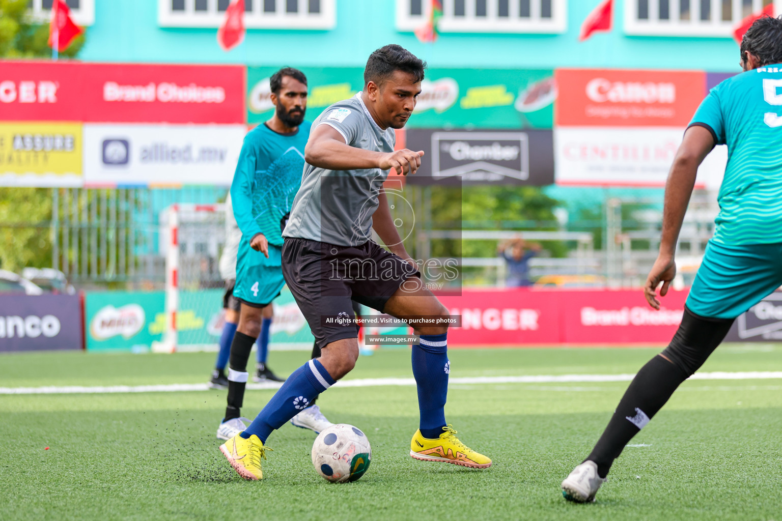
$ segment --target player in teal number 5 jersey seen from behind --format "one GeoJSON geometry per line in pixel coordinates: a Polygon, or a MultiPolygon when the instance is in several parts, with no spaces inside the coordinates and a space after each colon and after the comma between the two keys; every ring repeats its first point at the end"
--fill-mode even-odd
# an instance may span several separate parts
{"type": "Polygon", "coordinates": [[[712,89],[695,112],[665,185],[660,253],[647,278],[660,308],[698,166],[727,145],[716,232],[708,241],[679,330],[640,369],[591,454],[562,482],[571,501],[594,501],[622,449],[723,341],[737,316],[782,284],[782,20],[763,17],[741,41],[744,73],[712,89]]]}

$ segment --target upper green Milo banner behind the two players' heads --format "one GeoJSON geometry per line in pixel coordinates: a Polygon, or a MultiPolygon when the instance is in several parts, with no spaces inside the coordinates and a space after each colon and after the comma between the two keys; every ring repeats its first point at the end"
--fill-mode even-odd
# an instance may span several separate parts
{"type": "MultiPolygon", "coordinates": [[[[247,122],[274,112],[269,78],[277,67],[247,70],[247,122]]],[[[307,120],[364,88],[360,67],[302,67],[307,75],[307,120]]],[[[551,129],[557,88],[552,70],[430,69],[421,83],[408,128],[551,129]]]]}

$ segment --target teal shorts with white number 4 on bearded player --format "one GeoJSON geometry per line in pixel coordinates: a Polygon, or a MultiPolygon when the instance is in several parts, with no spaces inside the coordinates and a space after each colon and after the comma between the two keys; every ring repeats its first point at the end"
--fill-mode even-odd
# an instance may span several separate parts
{"type": "Polygon", "coordinates": [[[234,297],[253,307],[271,304],[285,286],[282,278],[282,248],[269,244],[269,258],[249,247],[249,241],[239,243],[236,255],[234,297]]]}

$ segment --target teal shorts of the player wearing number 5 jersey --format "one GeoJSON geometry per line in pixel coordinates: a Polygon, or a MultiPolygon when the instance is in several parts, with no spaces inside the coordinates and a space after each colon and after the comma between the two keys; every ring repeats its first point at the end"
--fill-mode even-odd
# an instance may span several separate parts
{"type": "Polygon", "coordinates": [[[782,243],[720,244],[708,241],[687,297],[700,316],[734,319],[782,285],[782,243]]]}

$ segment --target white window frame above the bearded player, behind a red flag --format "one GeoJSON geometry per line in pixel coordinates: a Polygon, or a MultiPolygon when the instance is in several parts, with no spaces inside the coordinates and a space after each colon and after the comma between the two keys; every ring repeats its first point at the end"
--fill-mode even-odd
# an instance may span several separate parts
{"type": "MultiPolygon", "coordinates": [[[[264,0],[253,0],[253,11],[245,12],[248,29],[333,29],[336,24],[337,0],[321,0],[321,12],[310,14],[308,0],[299,1],[299,12],[285,12],[285,0],[275,0],[274,12],[264,12],[264,0]],[[303,8],[303,9],[302,9],[303,8]]],[[[217,0],[207,0],[206,11],[195,11],[195,0],[185,0],[184,11],[171,9],[171,0],[157,0],[160,27],[220,27],[225,12],[217,10],[217,0]]]]}

